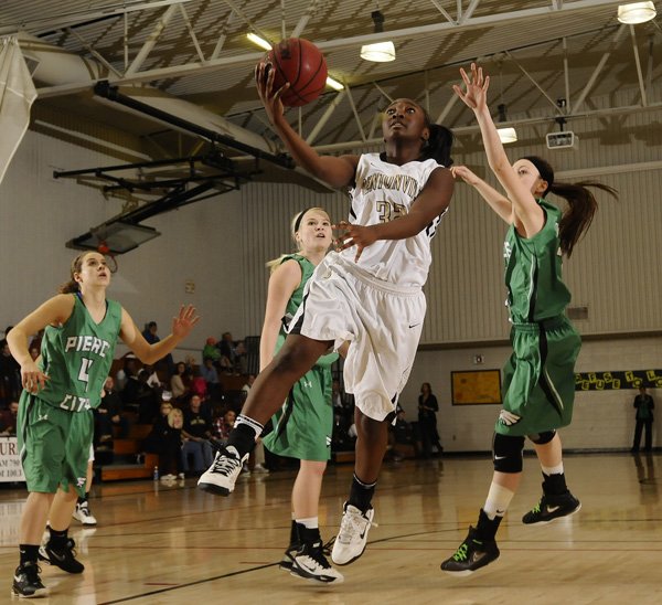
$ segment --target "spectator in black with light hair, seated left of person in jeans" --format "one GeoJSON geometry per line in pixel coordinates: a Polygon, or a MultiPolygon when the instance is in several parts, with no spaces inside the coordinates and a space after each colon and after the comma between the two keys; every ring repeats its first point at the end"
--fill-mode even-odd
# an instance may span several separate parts
{"type": "MultiPolygon", "coordinates": [[[[168,391],[164,396],[170,397],[168,391]]],[[[145,439],[145,450],[148,454],[158,454],[161,479],[169,480],[175,477],[184,478],[182,460],[182,427],[184,415],[181,410],[172,407],[170,401],[161,402],[159,417],[150,434],[145,439]]]]}

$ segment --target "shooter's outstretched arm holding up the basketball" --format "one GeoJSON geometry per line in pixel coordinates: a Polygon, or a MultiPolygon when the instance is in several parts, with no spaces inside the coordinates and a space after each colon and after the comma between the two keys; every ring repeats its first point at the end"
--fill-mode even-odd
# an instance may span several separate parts
{"type": "Polygon", "coordinates": [[[359,157],[320,156],[310,147],[285,119],[280,95],[287,91],[289,84],[274,91],[274,75],[275,71],[267,70],[266,63],[259,63],[255,67],[257,93],[265,106],[267,117],[295,161],[331,187],[341,188],[352,184],[359,157]]]}

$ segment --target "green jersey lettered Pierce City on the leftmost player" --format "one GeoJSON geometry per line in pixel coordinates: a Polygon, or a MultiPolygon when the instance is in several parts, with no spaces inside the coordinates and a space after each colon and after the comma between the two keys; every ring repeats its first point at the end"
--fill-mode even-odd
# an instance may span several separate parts
{"type": "Polygon", "coordinates": [[[98,407],[102,389],[115,355],[121,323],[121,305],[106,300],[106,315],[96,323],[81,297],[74,296],[71,317],[47,326],[41,348],[41,368],[49,375],[38,397],[50,405],[82,412],[98,407]]]}

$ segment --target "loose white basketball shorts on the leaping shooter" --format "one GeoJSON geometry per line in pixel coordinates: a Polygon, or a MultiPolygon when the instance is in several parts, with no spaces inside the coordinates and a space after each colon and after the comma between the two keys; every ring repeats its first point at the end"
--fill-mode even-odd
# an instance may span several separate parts
{"type": "Polygon", "coordinates": [[[383,421],[395,412],[407,383],[426,311],[419,287],[373,278],[331,253],[308,280],[290,326],[338,349],[350,341],[344,386],[366,416],[383,421]]]}

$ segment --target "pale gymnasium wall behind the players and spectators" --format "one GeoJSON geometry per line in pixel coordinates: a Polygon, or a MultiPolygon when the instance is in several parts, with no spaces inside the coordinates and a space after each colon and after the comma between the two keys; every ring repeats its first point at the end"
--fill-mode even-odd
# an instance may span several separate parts
{"type": "MultiPolygon", "coordinates": [[[[595,223],[565,263],[573,305],[586,306],[577,327],[587,336],[579,371],[660,368],[662,268],[660,225],[662,190],[660,144],[662,112],[600,118],[609,125],[595,136],[596,118],[569,125],[580,137],[576,150],[548,151],[540,124],[517,127],[516,158],[541,153],[558,178],[596,178],[620,191],[620,200],[600,195],[595,223]],[[601,340],[591,340],[600,337],[601,340]]],[[[553,129],[551,126],[549,129],[553,129]]],[[[456,162],[485,174],[476,137],[462,136],[456,162]]],[[[117,163],[117,157],[83,149],[30,130],[0,185],[0,331],[52,295],[67,274],[74,251],[64,243],[117,214],[121,205],[73,180],[53,180],[52,170],[117,163]]],[[[333,219],[346,215],[341,192],[313,193],[292,184],[249,184],[146,221],[162,235],[119,257],[110,295],[142,327],[156,320],[159,332],[180,302],[194,304],[202,321],[175,352],[199,352],[207,336],[232,330],[258,335],[268,275],[264,263],[292,250],[289,222],[310,205],[327,208],[333,219]],[[192,280],[194,294],[184,285],[192,280]]],[[[459,183],[451,210],[433,243],[434,265],[426,287],[428,316],[424,348],[417,357],[402,403],[416,417],[420,383],[433,383],[441,413],[439,426],[449,450],[487,450],[495,405],[450,405],[450,372],[472,370],[473,354],[483,368],[500,368],[508,355],[501,246],[505,225],[476,193],[459,183]]],[[[120,352],[121,349],[120,349],[120,352]]],[[[632,434],[632,391],[589,392],[577,397],[576,421],[564,431],[572,448],[627,447],[632,434]]],[[[661,406],[662,399],[653,391],[661,406]]]]}

